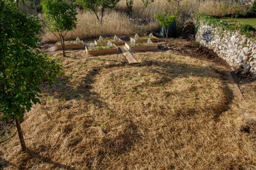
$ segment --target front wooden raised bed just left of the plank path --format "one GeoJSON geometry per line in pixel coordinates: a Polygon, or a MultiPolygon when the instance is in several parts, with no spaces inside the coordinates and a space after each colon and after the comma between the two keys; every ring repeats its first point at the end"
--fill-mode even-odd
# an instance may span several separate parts
{"type": "Polygon", "coordinates": [[[86,46],[86,53],[87,55],[104,55],[104,54],[110,54],[110,53],[117,53],[118,47],[113,44],[111,47],[108,45],[102,44],[102,45],[95,45],[95,49],[91,49],[90,45],[86,46]]]}

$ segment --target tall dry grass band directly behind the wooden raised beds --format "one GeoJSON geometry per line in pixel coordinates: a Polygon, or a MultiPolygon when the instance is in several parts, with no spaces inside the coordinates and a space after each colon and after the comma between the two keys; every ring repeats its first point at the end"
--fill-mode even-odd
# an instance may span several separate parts
{"type": "MultiPolygon", "coordinates": [[[[157,28],[156,22],[151,23],[151,29],[157,28]]],[[[77,27],[66,35],[66,39],[76,39],[76,37],[85,39],[103,36],[132,35],[135,33],[144,33],[145,28],[130,22],[130,18],[120,12],[109,10],[103,18],[103,33],[100,31],[100,24],[95,14],[79,11],[77,15],[77,27]]],[[[42,35],[43,41],[58,41],[51,32],[42,35]]]]}

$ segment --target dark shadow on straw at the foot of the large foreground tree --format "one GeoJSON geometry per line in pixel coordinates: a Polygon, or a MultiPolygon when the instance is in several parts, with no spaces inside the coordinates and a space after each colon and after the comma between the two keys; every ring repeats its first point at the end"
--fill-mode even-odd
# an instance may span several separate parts
{"type": "MultiPolygon", "coordinates": [[[[47,147],[46,146],[42,146],[41,148],[47,148],[47,147]]],[[[30,150],[30,149],[27,149],[25,154],[26,154],[26,156],[24,156],[23,159],[18,164],[18,169],[20,169],[20,170],[28,169],[29,167],[27,167],[27,163],[31,159],[37,159],[39,162],[44,162],[44,163],[52,164],[52,167],[51,167],[52,169],[53,168],[61,168],[61,169],[75,170],[75,168],[72,167],[72,166],[68,166],[68,165],[65,165],[65,164],[57,163],[57,162],[51,160],[48,157],[41,156],[40,152],[35,152],[35,151],[30,150]]],[[[33,166],[33,164],[30,164],[30,166],[33,166]]]]}

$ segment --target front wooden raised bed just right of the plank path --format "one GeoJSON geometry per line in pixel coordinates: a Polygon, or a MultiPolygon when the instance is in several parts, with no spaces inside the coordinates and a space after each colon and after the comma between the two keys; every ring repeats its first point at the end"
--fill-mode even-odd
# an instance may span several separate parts
{"type": "Polygon", "coordinates": [[[129,51],[154,51],[158,49],[158,45],[152,43],[147,45],[147,43],[136,43],[131,45],[131,43],[125,42],[125,46],[129,51]]]}

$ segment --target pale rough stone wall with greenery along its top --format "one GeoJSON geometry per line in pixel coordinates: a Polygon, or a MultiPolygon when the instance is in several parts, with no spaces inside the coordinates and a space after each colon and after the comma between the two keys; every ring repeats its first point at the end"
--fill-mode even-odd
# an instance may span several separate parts
{"type": "Polygon", "coordinates": [[[196,41],[214,50],[231,67],[241,70],[242,74],[256,76],[255,38],[248,38],[239,31],[200,24],[196,41]]]}

